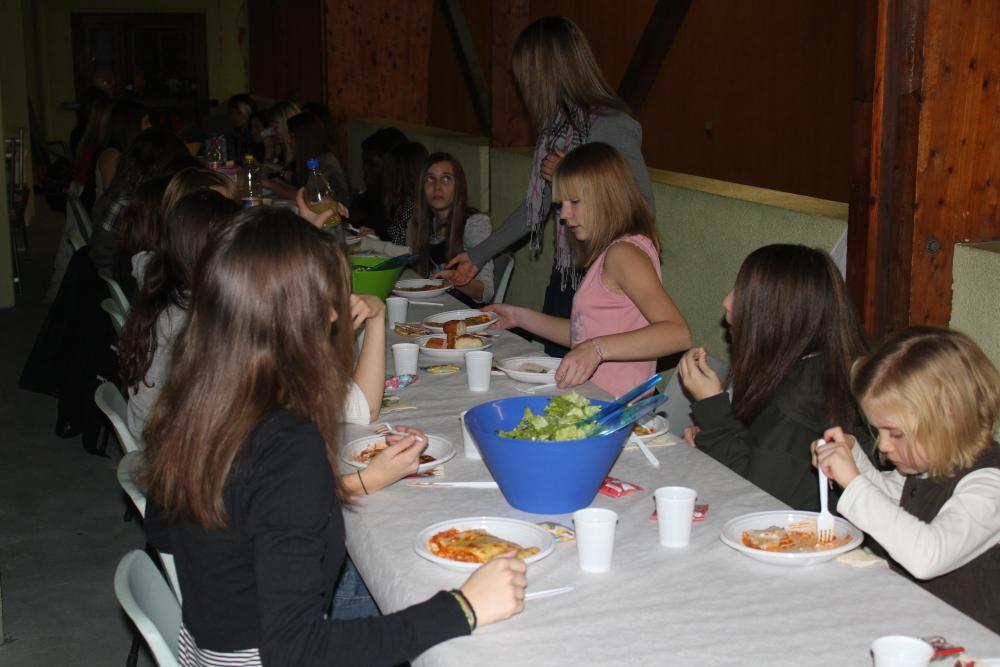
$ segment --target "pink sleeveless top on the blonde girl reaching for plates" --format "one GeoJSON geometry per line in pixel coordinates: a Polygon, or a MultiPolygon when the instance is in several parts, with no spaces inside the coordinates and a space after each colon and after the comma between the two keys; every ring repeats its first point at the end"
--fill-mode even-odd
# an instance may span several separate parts
{"type": "MultiPolygon", "coordinates": [[[[662,280],[660,257],[656,246],[646,236],[622,236],[612,242],[631,243],[639,247],[656,269],[656,275],[662,280]]],[[[608,246],[610,248],[611,246],[608,246]]],[[[647,320],[632,300],[623,293],[609,290],[601,279],[604,272],[604,258],[608,251],[602,252],[583,277],[583,282],[573,297],[573,315],[570,319],[570,344],[576,347],[584,341],[598,336],[625,333],[649,326],[647,320]]],[[[621,396],[656,372],[656,359],[648,361],[605,361],[597,367],[591,382],[613,396],[621,396]]]]}

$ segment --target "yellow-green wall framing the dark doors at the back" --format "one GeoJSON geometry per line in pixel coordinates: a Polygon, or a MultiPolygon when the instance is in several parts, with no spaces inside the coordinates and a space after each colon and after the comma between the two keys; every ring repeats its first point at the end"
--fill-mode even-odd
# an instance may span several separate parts
{"type": "Polygon", "coordinates": [[[225,100],[249,85],[246,45],[240,47],[240,27],[246,27],[241,0],[39,0],[36,5],[40,114],[50,138],[69,136],[72,111],[62,108],[75,99],[73,81],[74,12],[188,12],[205,14],[209,97],[225,100]]]}

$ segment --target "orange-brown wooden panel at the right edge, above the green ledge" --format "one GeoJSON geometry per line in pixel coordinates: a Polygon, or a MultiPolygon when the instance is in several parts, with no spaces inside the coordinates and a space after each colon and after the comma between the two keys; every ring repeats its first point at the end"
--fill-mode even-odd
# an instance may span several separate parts
{"type": "Polygon", "coordinates": [[[1000,238],[998,35],[997,0],[931,0],[916,156],[913,324],[947,324],[956,242],[1000,238]]]}

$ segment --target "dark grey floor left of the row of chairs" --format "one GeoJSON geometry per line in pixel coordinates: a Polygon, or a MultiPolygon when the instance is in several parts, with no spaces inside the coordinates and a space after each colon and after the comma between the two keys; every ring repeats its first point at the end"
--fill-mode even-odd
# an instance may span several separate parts
{"type": "MultiPolygon", "coordinates": [[[[118,608],[118,560],[143,544],[125,523],[110,458],[84,452],[79,437],[55,434],[56,401],[22,391],[21,368],[45,318],[41,303],[62,214],[40,203],[22,256],[24,294],[0,310],[0,665],[119,665],[132,639],[118,608]]],[[[140,655],[140,665],[153,664],[140,655]]]]}

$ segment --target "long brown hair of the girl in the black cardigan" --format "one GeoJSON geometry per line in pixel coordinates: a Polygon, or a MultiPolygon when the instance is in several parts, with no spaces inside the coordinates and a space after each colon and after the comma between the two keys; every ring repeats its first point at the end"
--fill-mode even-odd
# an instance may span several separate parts
{"type": "Polygon", "coordinates": [[[317,427],[336,471],[354,360],[349,286],[336,239],[289,211],[248,209],[206,250],[143,433],[149,490],[169,515],[224,526],[233,462],[276,410],[317,427]]]}

